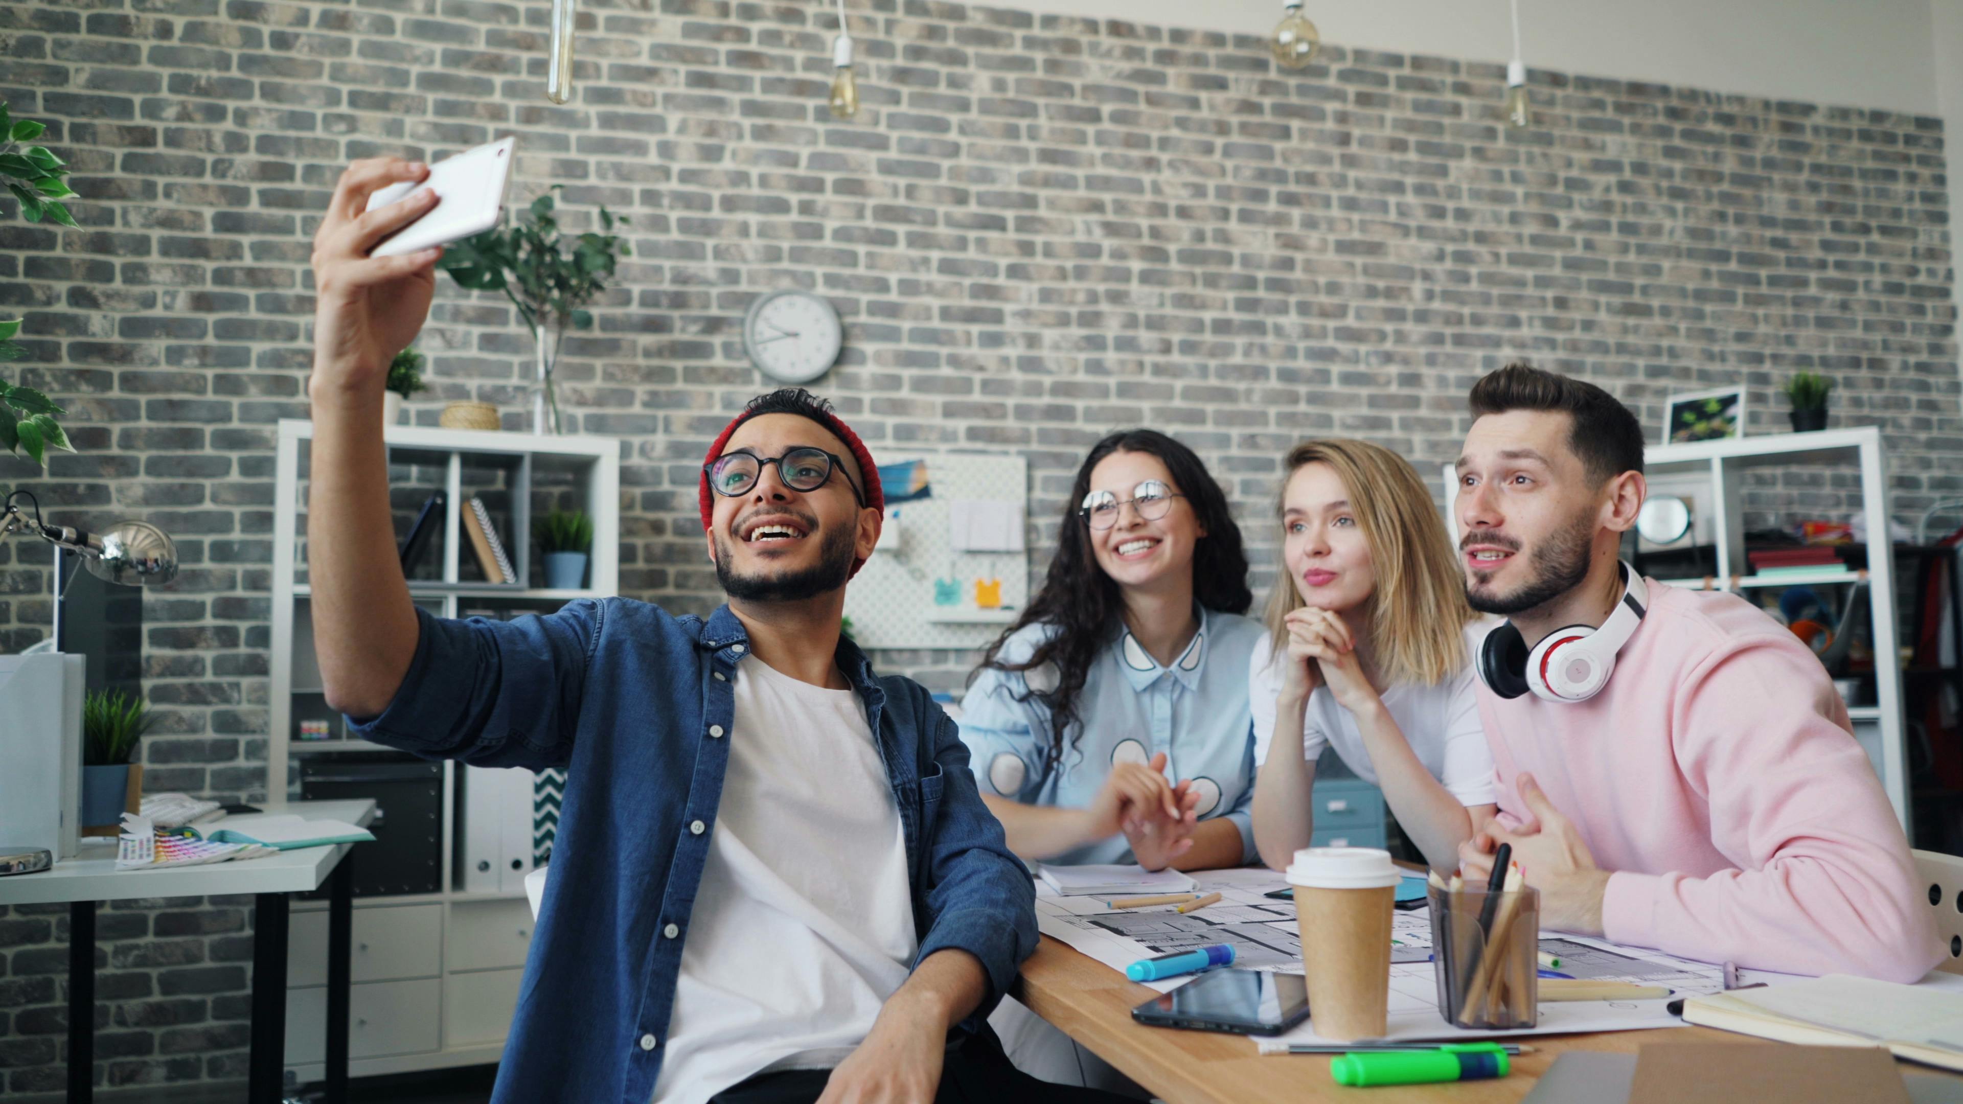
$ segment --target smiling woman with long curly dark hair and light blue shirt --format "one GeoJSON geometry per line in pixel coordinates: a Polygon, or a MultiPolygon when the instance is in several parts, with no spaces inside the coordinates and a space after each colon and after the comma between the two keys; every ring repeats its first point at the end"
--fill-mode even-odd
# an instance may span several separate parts
{"type": "Polygon", "coordinates": [[[982,798],[1029,860],[1241,866],[1262,629],[1227,495],[1184,444],[1084,458],[1040,593],[962,701],[982,798]]]}

